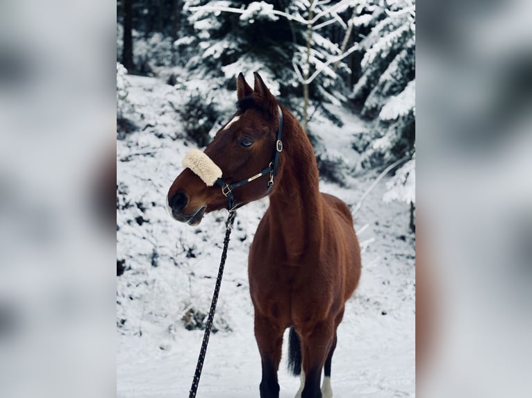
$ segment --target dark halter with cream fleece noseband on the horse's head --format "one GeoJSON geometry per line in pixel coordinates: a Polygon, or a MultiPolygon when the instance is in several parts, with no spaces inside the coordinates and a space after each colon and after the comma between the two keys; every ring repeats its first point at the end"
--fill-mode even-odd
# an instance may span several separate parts
{"type": "Polygon", "coordinates": [[[219,168],[215,162],[213,162],[208,155],[201,152],[200,150],[193,149],[185,155],[183,158],[183,167],[190,168],[196,175],[207,184],[208,187],[212,187],[215,183],[222,188],[222,193],[227,198],[228,201],[228,210],[233,211],[238,207],[235,197],[233,196],[233,190],[242,185],[247,184],[257,178],[267,175],[269,173],[268,180],[268,191],[270,193],[274,187],[274,178],[277,175],[277,170],[279,168],[279,157],[283,150],[283,141],[281,141],[281,135],[283,133],[283,111],[281,107],[277,105],[279,110],[279,128],[277,129],[277,139],[275,143],[275,150],[272,162],[269,162],[268,166],[259,171],[256,175],[252,175],[250,178],[245,180],[240,180],[238,182],[233,182],[228,184],[222,180],[222,169],[219,168]]]}

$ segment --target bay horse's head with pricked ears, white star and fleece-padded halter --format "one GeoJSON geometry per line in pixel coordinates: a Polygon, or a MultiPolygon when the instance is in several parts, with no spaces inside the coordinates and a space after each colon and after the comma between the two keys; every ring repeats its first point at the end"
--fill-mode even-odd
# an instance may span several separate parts
{"type": "Polygon", "coordinates": [[[198,225],[203,215],[234,209],[274,189],[282,150],[282,112],[258,73],[253,89],[240,73],[237,111],[201,152],[185,155],[185,170],[169,188],[167,207],[178,221],[198,225]]]}

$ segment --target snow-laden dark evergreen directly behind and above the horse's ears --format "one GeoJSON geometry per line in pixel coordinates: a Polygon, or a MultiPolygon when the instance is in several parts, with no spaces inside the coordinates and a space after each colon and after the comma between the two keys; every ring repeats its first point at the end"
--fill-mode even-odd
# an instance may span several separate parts
{"type": "MultiPolygon", "coordinates": [[[[224,87],[234,87],[240,71],[260,71],[301,119],[318,110],[340,123],[322,105],[346,99],[334,68],[342,51],[325,33],[331,24],[347,28],[340,13],[351,3],[187,0],[195,40],[189,34],[176,45],[184,51],[192,45],[187,67],[222,78],[224,87]]],[[[340,63],[340,71],[347,71],[345,64],[340,63]]]]}

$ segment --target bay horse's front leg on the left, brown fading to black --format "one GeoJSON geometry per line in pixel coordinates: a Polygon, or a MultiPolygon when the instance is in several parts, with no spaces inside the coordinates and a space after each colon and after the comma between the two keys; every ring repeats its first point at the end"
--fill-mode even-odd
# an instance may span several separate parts
{"type": "Polygon", "coordinates": [[[283,329],[255,310],[255,338],[263,365],[260,398],[279,398],[277,370],[281,362],[283,329]]]}

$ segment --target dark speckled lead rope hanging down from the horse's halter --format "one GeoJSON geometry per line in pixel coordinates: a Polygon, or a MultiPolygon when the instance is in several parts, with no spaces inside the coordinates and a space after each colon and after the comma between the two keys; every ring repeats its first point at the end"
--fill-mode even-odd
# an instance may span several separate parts
{"type": "Polygon", "coordinates": [[[201,349],[199,350],[198,363],[196,365],[196,372],[194,373],[194,380],[192,380],[192,386],[188,398],[195,398],[198,390],[199,378],[201,377],[201,369],[203,368],[203,361],[205,361],[205,355],[207,353],[207,345],[209,343],[210,329],[213,327],[213,318],[216,311],[216,302],[218,301],[218,293],[220,285],[222,285],[222,275],[224,275],[225,260],[227,257],[227,248],[229,245],[229,236],[231,236],[231,229],[233,227],[233,221],[235,220],[235,211],[229,211],[229,216],[226,221],[226,232],[224,239],[224,250],[222,251],[222,260],[218,270],[218,277],[216,279],[215,291],[213,293],[213,301],[210,303],[210,311],[207,318],[207,325],[205,333],[203,333],[203,341],[201,342],[201,349]]]}

